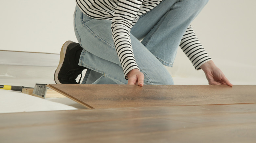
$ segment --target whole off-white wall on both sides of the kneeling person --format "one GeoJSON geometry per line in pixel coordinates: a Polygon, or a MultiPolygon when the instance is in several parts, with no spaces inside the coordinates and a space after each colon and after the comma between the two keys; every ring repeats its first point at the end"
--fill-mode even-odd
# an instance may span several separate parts
{"type": "MultiPolygon", "coordinates": [[[[210,0],[192,23],[208,54],[234,84],[256,85],[255,7],[255,0],[210,0]]],[[[0,50],[59,53],[66,40],[76,41],[74,8],[75,0],[0,1],[0,50]]],[[[174,77],[204,76],[181,50],[169,70],[174,77]]]]}

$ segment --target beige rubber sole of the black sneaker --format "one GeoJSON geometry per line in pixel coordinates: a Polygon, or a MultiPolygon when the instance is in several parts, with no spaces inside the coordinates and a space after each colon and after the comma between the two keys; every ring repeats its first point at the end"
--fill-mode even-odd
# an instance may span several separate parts
{"type": "Polygon", "coordinates": [[[59,56],[59,65],[54,73],[54,81],[56,84],[62,84],[62,83],[60,83],[60,81],[58,79],[58,75],[59,75],[60,68],[62,67],[62,64],[64,62],[64,58],[65,58],[65,54],[66,54],[68,45],[71,43],[73,43],[73,41],[66,41],[61,47],[60,56],[59,56]]]}

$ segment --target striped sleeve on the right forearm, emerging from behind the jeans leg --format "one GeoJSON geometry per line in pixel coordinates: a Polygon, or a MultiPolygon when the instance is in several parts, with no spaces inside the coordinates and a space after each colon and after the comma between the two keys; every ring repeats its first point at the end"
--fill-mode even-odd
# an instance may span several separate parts
{"type": "Polygon", "coordinates": [[[187,28],[185,34],[183,35],[180,47],[192,62],[196,70],[200,70],[200,66],[202,66],[205,62],[212,60],[204,50],[203,45],[198,40],[191,25],[187,28]]]}

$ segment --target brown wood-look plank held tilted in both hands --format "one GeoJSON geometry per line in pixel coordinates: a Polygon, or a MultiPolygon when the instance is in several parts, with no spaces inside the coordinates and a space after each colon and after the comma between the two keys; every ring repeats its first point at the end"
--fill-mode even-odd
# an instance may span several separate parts
{"type": "Polygon", "coordinates": [[[54,85],[48,87],[88,108],[256,103],[256,86],[54,85]]]}

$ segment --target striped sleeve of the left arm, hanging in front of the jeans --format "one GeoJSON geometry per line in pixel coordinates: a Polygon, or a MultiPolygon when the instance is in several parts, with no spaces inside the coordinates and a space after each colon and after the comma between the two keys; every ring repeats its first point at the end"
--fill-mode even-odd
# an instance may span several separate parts
{"type": "Polygon", "coordinates": [[[112,38],[125,77],[129,71],[139,69],[132,50],[130,31],[141,4],[142,0],[119,0],[112,19],[112,38]]]}

